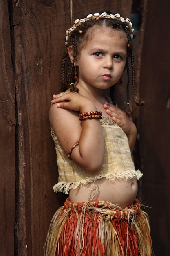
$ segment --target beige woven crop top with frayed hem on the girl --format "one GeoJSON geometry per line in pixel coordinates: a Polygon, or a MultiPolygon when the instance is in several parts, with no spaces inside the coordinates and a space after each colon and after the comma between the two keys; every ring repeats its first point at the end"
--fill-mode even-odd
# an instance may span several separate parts
{"type": "Polygon", "coordinates": [[[122,179],[126,177],[128,179],[136,177],[139,179],[142,177],[143,174],[139,170],[135,170],[128,138],[121,127],[109,117],[103,117],[100,122],[105,140],[105,154],[102,168],[97,173],[88,173],[69,160],[54,130],[51,128],[59,173],[58,183],[53,187],[55,192],[68,194],[72,188],[77,188],[82,184],[85,185],[103,177],[106,177],[108,182],[115,178],[122,179]]]}

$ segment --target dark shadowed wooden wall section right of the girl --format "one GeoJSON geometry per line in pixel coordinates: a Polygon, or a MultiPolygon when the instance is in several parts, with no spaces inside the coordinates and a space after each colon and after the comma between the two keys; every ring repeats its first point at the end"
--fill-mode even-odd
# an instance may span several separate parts
{"type": "Polygon", "coordinates": [[[170,2],[144,0],[138,132],[142,199],[150,215],[155,256],[170,255],[170,2]]]}

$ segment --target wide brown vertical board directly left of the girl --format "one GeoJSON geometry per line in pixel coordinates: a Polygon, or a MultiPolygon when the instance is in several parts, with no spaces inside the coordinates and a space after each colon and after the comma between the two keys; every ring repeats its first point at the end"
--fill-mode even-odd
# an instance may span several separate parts
{"type": "Polygon", "coordinates": [[[60,77],[65,8],[54,1],[18,1],[11,9],[18,111],[15,254],[43,255],[47,229],[57,209],[49,107],[51,90],[57,89],[60,77]]]}

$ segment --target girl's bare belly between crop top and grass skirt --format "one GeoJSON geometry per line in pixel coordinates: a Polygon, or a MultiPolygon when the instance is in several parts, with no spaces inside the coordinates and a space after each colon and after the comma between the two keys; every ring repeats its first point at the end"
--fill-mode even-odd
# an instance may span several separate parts
{"type": "Polygon", "coordinates": [[[137,195],[137,179],[114,179],[107,182],[106,178],[96,180],[87,185],[71,189],[71,202],[86,202],[87,200],[106,200],[122,208],[132,205],[137,195]]]}

